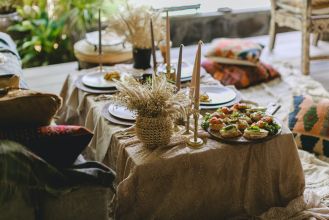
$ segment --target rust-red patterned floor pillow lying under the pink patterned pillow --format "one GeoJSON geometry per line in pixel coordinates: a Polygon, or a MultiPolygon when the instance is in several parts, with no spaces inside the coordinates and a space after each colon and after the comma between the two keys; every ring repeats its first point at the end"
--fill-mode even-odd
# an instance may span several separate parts
{"type": "Polygon", "coordinates": [[[280,74],[272,66],[261,62],[255,66],[244,66],[205,60],[202,62],[202,67],[223,85],[234,85],[237,89],[247,88],[280,77],[280,74]]]}

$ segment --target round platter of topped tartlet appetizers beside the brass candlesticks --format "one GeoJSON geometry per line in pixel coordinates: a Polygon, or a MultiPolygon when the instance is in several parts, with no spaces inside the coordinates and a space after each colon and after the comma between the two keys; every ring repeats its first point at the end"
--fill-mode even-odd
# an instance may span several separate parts
{"type": "Polygon", "coordinates": [[[281,133],[281,123],[265,107],[237,103],[203,117],[202,127],[216,140],[229,144],[264,142],[281,133]]]}

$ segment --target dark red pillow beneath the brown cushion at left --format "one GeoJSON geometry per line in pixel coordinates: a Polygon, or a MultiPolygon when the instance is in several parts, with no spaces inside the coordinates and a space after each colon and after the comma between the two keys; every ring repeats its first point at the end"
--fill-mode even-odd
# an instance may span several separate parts
{"type": "Polygon", "coordinates": [[[13,140],[56,167],[69,167],[87,147],[93,134],[81,126],[0,129],[0,140],[13,140]]]}

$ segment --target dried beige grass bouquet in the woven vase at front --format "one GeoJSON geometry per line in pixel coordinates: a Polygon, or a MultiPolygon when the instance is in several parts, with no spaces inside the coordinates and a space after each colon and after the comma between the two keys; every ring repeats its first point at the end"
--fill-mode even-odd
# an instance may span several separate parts
{"type": "Polygon", "coordinates": [[[112,100],[137,111],[141,117],[177,118],[185,114],[185,106],[189,103],[187,95],[183,91],[175,93],[175,86],[167,82],[165,76],[156,76],[152,81],[141,84],[133,77],[117,81],[119,93],[112,100]]]}

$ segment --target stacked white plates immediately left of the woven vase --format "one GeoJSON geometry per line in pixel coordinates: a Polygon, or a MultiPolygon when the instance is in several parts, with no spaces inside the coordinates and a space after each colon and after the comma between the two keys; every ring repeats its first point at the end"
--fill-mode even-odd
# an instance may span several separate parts
{"type": "Polygon", "coordinates": [[[135,124],[136,113],[128,110],[124,106],[106,104],[102,110],[102,115],[112,123],[131,126],[135,124]]]}

